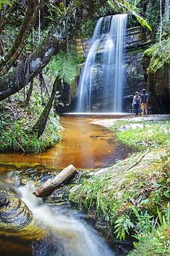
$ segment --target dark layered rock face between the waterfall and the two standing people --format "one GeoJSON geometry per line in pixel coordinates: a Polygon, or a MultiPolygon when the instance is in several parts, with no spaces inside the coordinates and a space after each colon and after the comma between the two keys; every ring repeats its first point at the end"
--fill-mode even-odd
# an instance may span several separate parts
{"type": "Polygon", "coordinates": [[[125,85],[124,85],[124,109],[131,111],[131,102],[136,91],[141,93],[147,88],[142,69],[142,55],[149,44],[149,37],[141,27],[127,30],[127,42],[125,53],[125,85]]]}

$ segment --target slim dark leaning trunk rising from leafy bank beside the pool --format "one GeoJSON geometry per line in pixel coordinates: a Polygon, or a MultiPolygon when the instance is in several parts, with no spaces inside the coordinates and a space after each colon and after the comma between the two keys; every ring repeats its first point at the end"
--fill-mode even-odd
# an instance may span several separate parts
{"type": "Polygon", "coordinates": [[[47,118],[50,114],[50,110],[52,108],[52,102],[54,100],[54,96],[56,94],[57,89],[59,88],[61,83],[61,80],[59,80],[58,77],[56,77],[56,80],[54,81],[53,84],[53,89],[52,89],[52,93],[50,96],[50,100],[47,102],[46,107],[43,109],[43,112],[41,113],[41,116],[39,117],[39,120],[37,120],[36,124],[34,125],[32,131],[35,133],[38,133],[38,137],[41,136],[41,134],[43,134],[43,131],[45,129],[45,125],[47,123],[47,118]]]}

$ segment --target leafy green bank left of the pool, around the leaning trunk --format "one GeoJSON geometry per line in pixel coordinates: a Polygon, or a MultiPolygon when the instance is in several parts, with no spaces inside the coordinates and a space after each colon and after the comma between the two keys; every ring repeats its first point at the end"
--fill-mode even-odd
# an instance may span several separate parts
{"type": "MultiPolygon", "coordinates": [[[[43,135],[38,138],[32,133],[32,127],[43,111],[41,89],[34,81],[33,91],[28,109],[25,109],[25,91],[20,91],[0,104],[0,152],[43,152],[61,140],[59,131],[62,127],[59,116],[54,116],[51,110],[43,135]]],[[[26,88],[27,89],[27,88],[26,88]]],[[[50,86],[49,86],[50,89],[50,86]]],[[[48,100],[43,96],[44,102],[48,100]]]]}

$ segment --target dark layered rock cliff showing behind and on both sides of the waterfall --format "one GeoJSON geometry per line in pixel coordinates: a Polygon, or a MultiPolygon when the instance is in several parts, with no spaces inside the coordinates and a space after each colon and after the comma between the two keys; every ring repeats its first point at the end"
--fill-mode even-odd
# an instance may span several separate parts
{"type": "MultiPolygon", "coordinates": [[[[147,89],[147,82],[142,69],[142,55],[145,49],[149,46],[149,36],[141,27],[127,29],[126,38],[126,53],[125,53],[125,82],[123,91],[123,111],[131,111],[131,102],[134,93],[138,91],[141,93],[143,88],[147,89]]],[[[83,48],[87,47],[87,42],[84,42],[83,48]]],[[[96,88],[103,88],[103,78],[100,72],[100,64],[96,68],[96,88]]],[[[71,104],[63,111],[75,111],[76,89],[78,84],[74,82],[71,86],[71,104]]],[[[101,99],[102,101],[102,99],[101,99]]],[[[150,104],[150,102],[149,102],[150,104]]],[[[97,111],[97,106],[96,111],[97,111]]],[[[98,106],[100,107],[100,106],[98,106]]],[[[151,109],[151,106],[149,106],[151,109]]]]}

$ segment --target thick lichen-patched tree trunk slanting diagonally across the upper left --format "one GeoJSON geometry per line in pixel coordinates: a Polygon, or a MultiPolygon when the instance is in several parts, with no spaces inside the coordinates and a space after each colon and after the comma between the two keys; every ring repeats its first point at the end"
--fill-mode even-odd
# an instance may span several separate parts
{"type": "MultiPolygon", "coordinates": [[[[71,39],[81,26],[85,24],[85,21],[94,15],[98,8],[106,2],[107,0],[77,1],[76,10],[70,8],[71,25],[67,31],[69,38],[71,39]]],[[[0,77],[0,101],[23,89],[50,62],[51,57],[59,53],[66,44],[66,33],[59,33],[59,28],[54,25],[47,37],[40,42],[33,53],[26,60],[22,60],[19,63],[17,72],[11,70],[6,75],[0,77]]]]}

